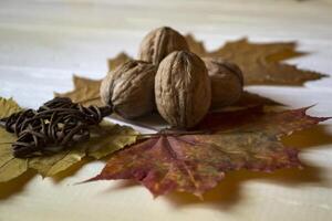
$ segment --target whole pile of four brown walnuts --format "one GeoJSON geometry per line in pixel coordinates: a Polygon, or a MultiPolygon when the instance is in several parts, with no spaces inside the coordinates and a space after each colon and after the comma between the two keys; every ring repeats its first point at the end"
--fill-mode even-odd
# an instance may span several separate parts
{"type": "Polygon", "coordinates": [[[228,106],[242,93],[240,69],[221,59],[200,59],[186,39],[164,27],[142,41],[138,60],[108,73],[101,86],[104,104],[124,118],[135,118],[157,108],[176,128],[198,124],[210,107],[228,106]]]}

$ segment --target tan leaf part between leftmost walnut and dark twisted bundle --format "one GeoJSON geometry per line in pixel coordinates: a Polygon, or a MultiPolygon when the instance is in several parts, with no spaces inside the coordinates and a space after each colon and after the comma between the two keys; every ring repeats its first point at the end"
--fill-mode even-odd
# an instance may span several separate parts
{"type": "Polygon", "coordinates": [[[66,93],[54,93],[59,97],[70,97],[73,102],[84,106],[102,106],[100,86],[102,81],[84,78],[73,75],[74,90],[66,93]]]}

